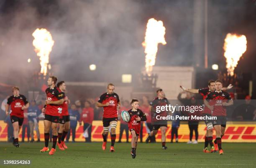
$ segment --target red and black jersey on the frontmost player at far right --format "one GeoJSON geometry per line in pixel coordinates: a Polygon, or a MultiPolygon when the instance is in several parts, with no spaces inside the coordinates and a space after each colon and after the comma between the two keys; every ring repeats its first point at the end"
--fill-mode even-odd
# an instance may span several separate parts
{"type": "Polygon", "coordinates": [[[218,92],[210,92],[205,98],[209,104],[213,107],[212,116],[226,116],[227,110],[226,107],[222,105],[223,102],[228,102],[231,100],[228,92],[220,91],[218,92]]]}

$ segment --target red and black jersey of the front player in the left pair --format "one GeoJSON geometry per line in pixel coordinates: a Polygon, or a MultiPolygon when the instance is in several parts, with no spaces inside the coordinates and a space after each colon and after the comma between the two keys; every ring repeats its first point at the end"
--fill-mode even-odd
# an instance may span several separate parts
{"type": "MultiPolygon", "coordinates": [[[[49,100],[49,101],[58,101],[58,100],[64,98],[63,92],[61,92],[61,90],[56,86],[52,89],[50,87],[48,87],[45,90],[45,93],[47,96],[47,100],[49,100]]],[[[60,116],[61,111],[62,111],[62,109],[59,104],[47,104],[45,114],[53,115],[53,116],[60,116]]]]}

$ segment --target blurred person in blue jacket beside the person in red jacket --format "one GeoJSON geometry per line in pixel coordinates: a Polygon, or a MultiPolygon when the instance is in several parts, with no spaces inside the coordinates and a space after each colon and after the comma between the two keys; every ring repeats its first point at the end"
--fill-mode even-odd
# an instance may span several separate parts
{"type": "Polygon", "coordinates": [[[72,142],[75,142],[77,121],[80,120],[80,114],[75,104],[72,104],[71,109],[69,109],[69,118],[70,118],[70,130],[67,133],[67,138],[66,138],[67,143],[69,142],[70,131],[72,131],[72,142]]]}

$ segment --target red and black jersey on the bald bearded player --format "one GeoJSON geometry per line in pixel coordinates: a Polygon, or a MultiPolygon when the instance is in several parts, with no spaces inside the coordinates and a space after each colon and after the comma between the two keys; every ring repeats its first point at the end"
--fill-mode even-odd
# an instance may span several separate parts
{"type": "Polygon", "coordinates": [[[100,96],[100,99],[98,100],[98,102],[102,104],[109,103],[108,107],[103,107],[104,118],[118,117],[117,104],[118,102],[120,102],[118,94],[104,93],[100,96]]]}

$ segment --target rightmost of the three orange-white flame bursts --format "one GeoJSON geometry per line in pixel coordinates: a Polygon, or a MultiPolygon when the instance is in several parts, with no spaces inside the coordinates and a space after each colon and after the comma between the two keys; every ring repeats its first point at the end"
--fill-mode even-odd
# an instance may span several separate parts
{"type": "Polygon", "coordinates": [[[223,49],[226,58],[226,68],[228,75],[233,76],[235,67],[238,64],[240,57],[246,51],[246,36],[228,33],[225,38],[223,49]]]}

